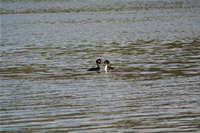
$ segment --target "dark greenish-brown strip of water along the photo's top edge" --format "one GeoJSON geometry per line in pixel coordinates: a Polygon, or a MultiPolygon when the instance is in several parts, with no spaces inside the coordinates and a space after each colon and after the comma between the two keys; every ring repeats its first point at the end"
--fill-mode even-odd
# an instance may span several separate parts
{"type": "Polygon", "coordinates": [[[199,1],[2,1],[1,14],[137,11],[199,8],[199,1]],[[50,4],[54,3],[54,4],[50,4]],[[16,6],[17,10],[13,8],[16,6]],[[27,5],[27,6],[23,6],[27,5]],[[69,6],[70,5],[70,6],[69,6]]]}

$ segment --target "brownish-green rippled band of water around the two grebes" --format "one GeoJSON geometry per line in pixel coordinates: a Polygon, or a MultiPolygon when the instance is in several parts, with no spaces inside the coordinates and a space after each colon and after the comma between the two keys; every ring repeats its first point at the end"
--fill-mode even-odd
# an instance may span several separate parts
{"type": "MultiPolygon", "coordinates": [[[[156,43],[130,43],[119,44],[112,42],[111,44],[104,44],[102,46],[81,46],[81,48],[66,49],[61,47],[45,48],[46,50],[57,51],[53,56],[46,52],[45,49],[32,49],[26,48],[25,53],[21,51],[18,53],[15,49],[10,50],[7,54],[14,54],[21,56],[17,64],[13,66],[2,66],[1,74],[4,76],[36,76],[36,77],[49,77],[49,78],[85,78],[92,73],[87,73],[86,70],[89,67],[95,66],[95,62],[88,60],[87,52],[91,55],[100,55],[100,53],[113,54],[113,59],[110,63],[112,66],[116,66],[113,71],[118,73],[123,79],[159,79],[164,77],[179,77],[179,76],[198,76],[200,74],[199,62],[199,42],[194,43],[168,43],[159,45],[156,43]],[[44,63],[38,62],[34,64],[27,64],[26,58],[29,51],[36,50],[35,54],[38,56],[41,54],[45,59],[44,63]],[[72,54],[68,65],[52,64],[51,62],[59,62],[65,60],[65,55],[72,54]],[[74,53],[80,56],[75,57],[74,53]],[[25,55],[25,57],[24,57],[25,55]],[[132,55],[132,56],[130,56],[132,55]],[[46,56],[46,57],[45,57],[46,56]],[[58,61],[55,61],[58,60],[58,61]],[[76,60],[77,63],[72,63],[76,60]],[[21,62],[21,64],[19,63],[21,62]],[[79,63],[81,62],[81,63],[79,63]],[[24,64],[24,65],[23,65],[24,64]],[[91,65],[89,65],[91,64],[91,65]]],[[[10,56],[9,55],[9,56],[10,56]]],[[[100,56],[99,56],[100,57],[100,56]]],[[[6,59],[7,57],[3,57],[6,59]]],[[[104,57],[109,58],[107,56],[104,57]]],[[[30,57],[32,60],[32,57],[30,57]]],[[[34,60],[33,60],[34,61],[34,60]]],[[[13,62],[14,63],[14,62],[13,62]]],[[[101,65],[101,72],[104,73],[104,65],[101,65]]],[[[119,77],[117,77],[119,78],[119,77]]]]}

